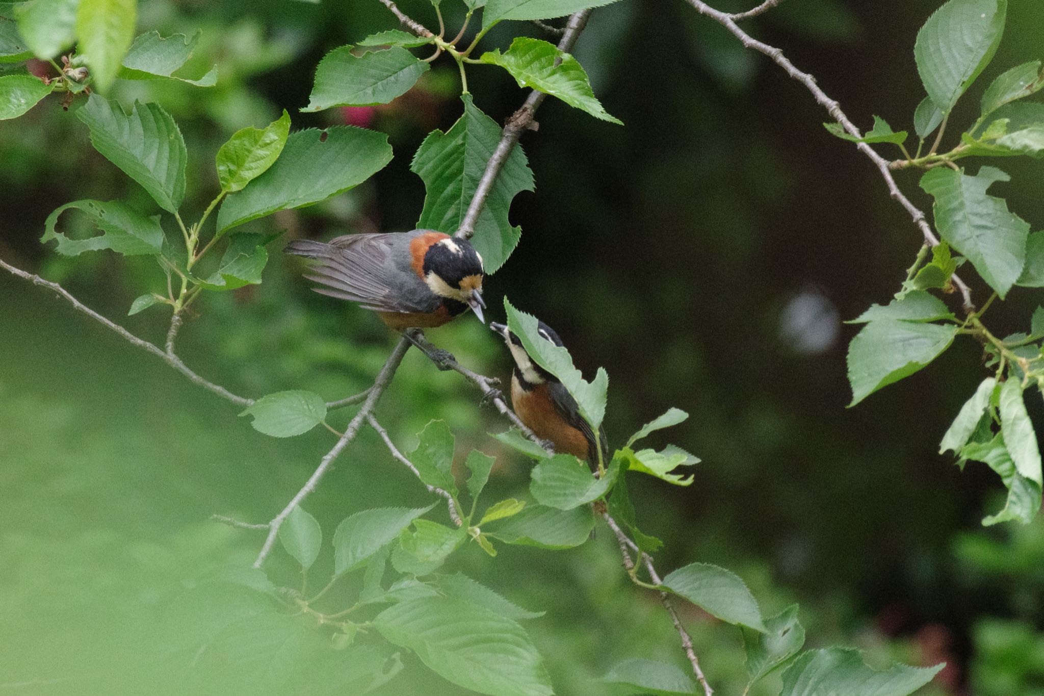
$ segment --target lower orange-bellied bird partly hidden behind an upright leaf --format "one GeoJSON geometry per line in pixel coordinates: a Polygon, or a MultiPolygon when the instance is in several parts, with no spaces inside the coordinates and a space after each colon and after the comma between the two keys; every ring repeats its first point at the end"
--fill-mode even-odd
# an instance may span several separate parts
{"type": "MultiPolygon", "coordinates": [[[[512,405],[515,412],[538,437],[550,440],[555,452],[564,452],[591,464],[601,458],[609,463],[609,443],[606,431],[598,429],[597,447],[594,431],[580,415],[579,406],[566,387],[549,371],[538,365],[522,347],[519,337],[507,327],[495,321],[490,329],[499,334],[515,359],[512,373],[512,405]]],[[[538,332],[545,340],[562,346],[562,339],[549,326],[540,321],[538,332]]]]}

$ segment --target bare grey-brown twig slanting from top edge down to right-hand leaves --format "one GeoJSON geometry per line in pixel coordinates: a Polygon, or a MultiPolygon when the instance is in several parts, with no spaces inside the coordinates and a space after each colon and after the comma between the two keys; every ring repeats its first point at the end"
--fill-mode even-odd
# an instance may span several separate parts
{"type": "MultiPolygon", "coordinates": [[[[801,70],[798,70],[798,68],[796,68],[794,65],[790,63],[790,61],[788,61],[785,55],[783,55],[783,51],[774,46],[769,46],[768,44],[764,44],[758,41],[757,39],[751,37],[751,34],[743,31],[736,24],[735,19],[732,15],[714,9],[713,7],[709,6],[706,2],[703,2],[703,0],[685,0],[685,1],[688,2],[690,5],[692,5],[696,9],[696,11],[698,11],[701,15],[713,19],[715,22],[727,28],[730,32],[732,32],[733,35],[739,39],[739,42],[743,44],[745,48],[758,51],[759,53],[763,53],[767,55],[769,58],[772,58],[776,63],[776,65],[783,68],[783,70],[786,71],[786,73],[790,77],[804,85],[805,88],[812,93],[812,96],[815,97],[815,101],[820,105],[825,107],[827,112],[830,114],[830,116],[841,124],[845,130],[855,136],[856,138],[862,137],[862,134],[860,134],[859,131],[859,128],[857,128],[855,124],[852,123],[851,120],[849,120],[849,117],[845,115],[845,112],[841,111],[840,104],[837,103],[837,101],[835,101],[834,99],[828,97],[827,94],[822,89],[820,89],[820,86],[816,85],[815,78],[812,77],[812,75],[806,72],[802,72],[801,70]]],[[[870,158],[870,160],[880,170],[881,176],[884,177],[884,183],[888,187],[888,194],[892,196],[893,199],[899,201],[899,203],[904,209],[906,209],[906,212],[909,213],[909,216],[912,218],[914,223],[917,224],[918,227],[920,227],[921,234],[924,235],[925,240],[927,240],[927,242],[932,246],[936,246],[939,244],[939,237],[936,237],[935,233],[932,232],[931,225],[928,224],[927,219],[925,218],[925,215],[921,211],[921,209],[919,209],[917,206],[910,202],[910,199],[907,198],[905,195],[903,195],[903,192],[899,190],[899,186],[896,184],[896,179],[892,176],[892,170],[888,167],[889,164],[888,161],[882,158],[880,154],[878,154],[874,150],[874,148],[872,148],[867,143],[857,143],[856,147],[858,147],[863,154],[870,158]]],[[[975,311],[975,305],[972,304],[971,291],[968,289],[968,286],[965,284],[965,282],[962,281],[956,275],[953,275],[953,284],[957,286],[957,288],[960,290],[962,296],[964,297],[965,311],[969,313],[975,311]]]]}

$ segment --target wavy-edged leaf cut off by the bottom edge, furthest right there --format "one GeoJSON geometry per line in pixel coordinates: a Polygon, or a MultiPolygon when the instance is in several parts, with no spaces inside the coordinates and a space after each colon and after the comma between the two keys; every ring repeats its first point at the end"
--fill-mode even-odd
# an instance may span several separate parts
{"type": "Polygon", "coordinates": [[[862,653],[851,648],[808,650],[783,672],[781,696],[907,696],[931,681],[945,665],[908,667],[898,663],[886,670],[871,669],[862,653]]]}

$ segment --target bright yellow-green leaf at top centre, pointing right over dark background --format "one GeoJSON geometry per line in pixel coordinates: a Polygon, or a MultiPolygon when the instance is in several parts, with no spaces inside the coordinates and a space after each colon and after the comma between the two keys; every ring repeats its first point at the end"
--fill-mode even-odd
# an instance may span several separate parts
{"type": "MultiPolygon", "coordinates": [[[[489,9],[487,9],[489,11],[489,9]]],[[[482,63],[500,66],[512,74],[519,87],[529,87],[562,99],[570,106],[586,111],[603,121],[623,124],[610,116],[591,90],[587,73],[579,63],[553,44],[540,39],[518,37],[506,53],[500,49],[483,53],[482,63]]]]}

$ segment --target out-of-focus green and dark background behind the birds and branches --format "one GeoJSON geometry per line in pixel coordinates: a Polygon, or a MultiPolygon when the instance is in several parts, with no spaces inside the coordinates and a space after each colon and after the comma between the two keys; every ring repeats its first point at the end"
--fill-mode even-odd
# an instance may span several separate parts
{"type": "MultiPolygon", "coordinates": [[[[444,4],[459,26],[462,4],[444,4]]],[[[923,97],[912,45],[938,4],[786,0],[750,26],[812,72],[857,124],[877,114],[912,129],[923,97]]],[[[428,3],[400,5],[434,24],[428,3]]],[[[217,147],[281,109],[296,128],[348,120],[386,131],[396,159],[371,182],[253,225],[285,229],[284,240],[408,230],[424,196],[409,162],[429,130],[459,114],[455,66],[436,62],[386,106],[296,112],[326,51],[395,26],[372,0],[143,0],[140,30],[203,29],[193,61],[200,73],[216,63],[218,85],[118,82],[114,96],[158,100],[175,117],[189,147],[186,210],[196,214],[216,191],[217,147]]],[[[541,35],[505,23],[488,45],[517,33],[541,35]]],[[[1041,37],[1044,8],[1012,0],[1000,51],[954,121],[973,120],[996,74],[1044,57],[1041,37]]],[[[513,206],[523,238],[487,283],[489,314],[500,318],[506,293],[562,334],[586,374],[608,369],[614,446],[668,406],[691,414],[669,437],[703,458],[694,485],[631,482],[639,521],[666,542],[658,566],[730,568],[766,614],[799,601],[810,647],[856,645],[878,666],[946,661],[927,694],[1044,694],[1044,524],[981,528],[983,512],[1002,504],[995,475],[978,464],[962,473],[936,454],[982,377],[978,346],[958,342],[929,369],[845,408],[854,331],[840,321],[886,302],[920,246],[879,173],[823,129],[827,116],[804,88],[682,2],[595,10],[575,54],[626,125],[554,99],[541,109],[539,133],[523,139],[537,191],[513,206]]],[[[472,67],[469,83],[498,121],[523,98],[495,68],[472,67]]],[[[161,290],[155,262],[61,259],[38,241],[47,215],[71,200],[150,205],[90,147],[72,112],[55,97],[0,123],[0,257],[160,341],[162,309],[124,316],[134,297],[161,290]]],[[[1005,169],[1013,182],[999,188],[1039,229],[1044,170],[1034,162],[1005,169]]],[[[899,182],[930,208],[915,174],[899,182]]],[[[366,312],[310,292],[300,264],[277,253],[282,243],[270,247],[263,285],[208,293],[194,307],[183,357],[252,397],[354,393],[394,337],[366,312]]],[[[973,286],[984,299],[986,286],[973,286]]],[[[53,293],[2,274],[0,297],[0,693],[264,693],[217,682],[186,691],[161,679],[182,649],[171,637],[191,630],[167,622],[183,616],[181,593],[215,568],[248,566],[261,543],[259,532],[208,518],[269,519],[329,449],[329,433],[267,438],[53,293]]],[[[1041,302],[1019,290],[991,310],[991,327],[1025,330],[1041,302]]],[[[471,318],[430,337],[479,371],[508,371],[502,344],[471,318]]],[[[528,464],[487,436],[504,424],[476,395],[412,352],[378,414],[404,451],[429,419],[446,419],[458,456],[471,447],[498,455],[493,485],[523,496],[528,464]]],[[[1041,403],[1029,402],[1041,415],[1041,403]]],[[[335,426],[350,414],[334,415],[335,426]]],[[[329,537],[351,512],[428,499],[366,431],[307,507],[329,537]]],[[[490,559],[471,545],[458,556],[455,567],[547,611],[527,628],[557,693],[618,693],[591,679],[630,656],[685,665],[655,596],[626,581],[608,530],[568,552],[501,547],[490,559]]],[[[293,580],[281,550],[271,572],[293,580]]],[[[713,686],[738,693],[738,632],[695,610],[685,618],[713,686]]],[[[464,693],[405,662],[377,693],[464,693]]]]}

